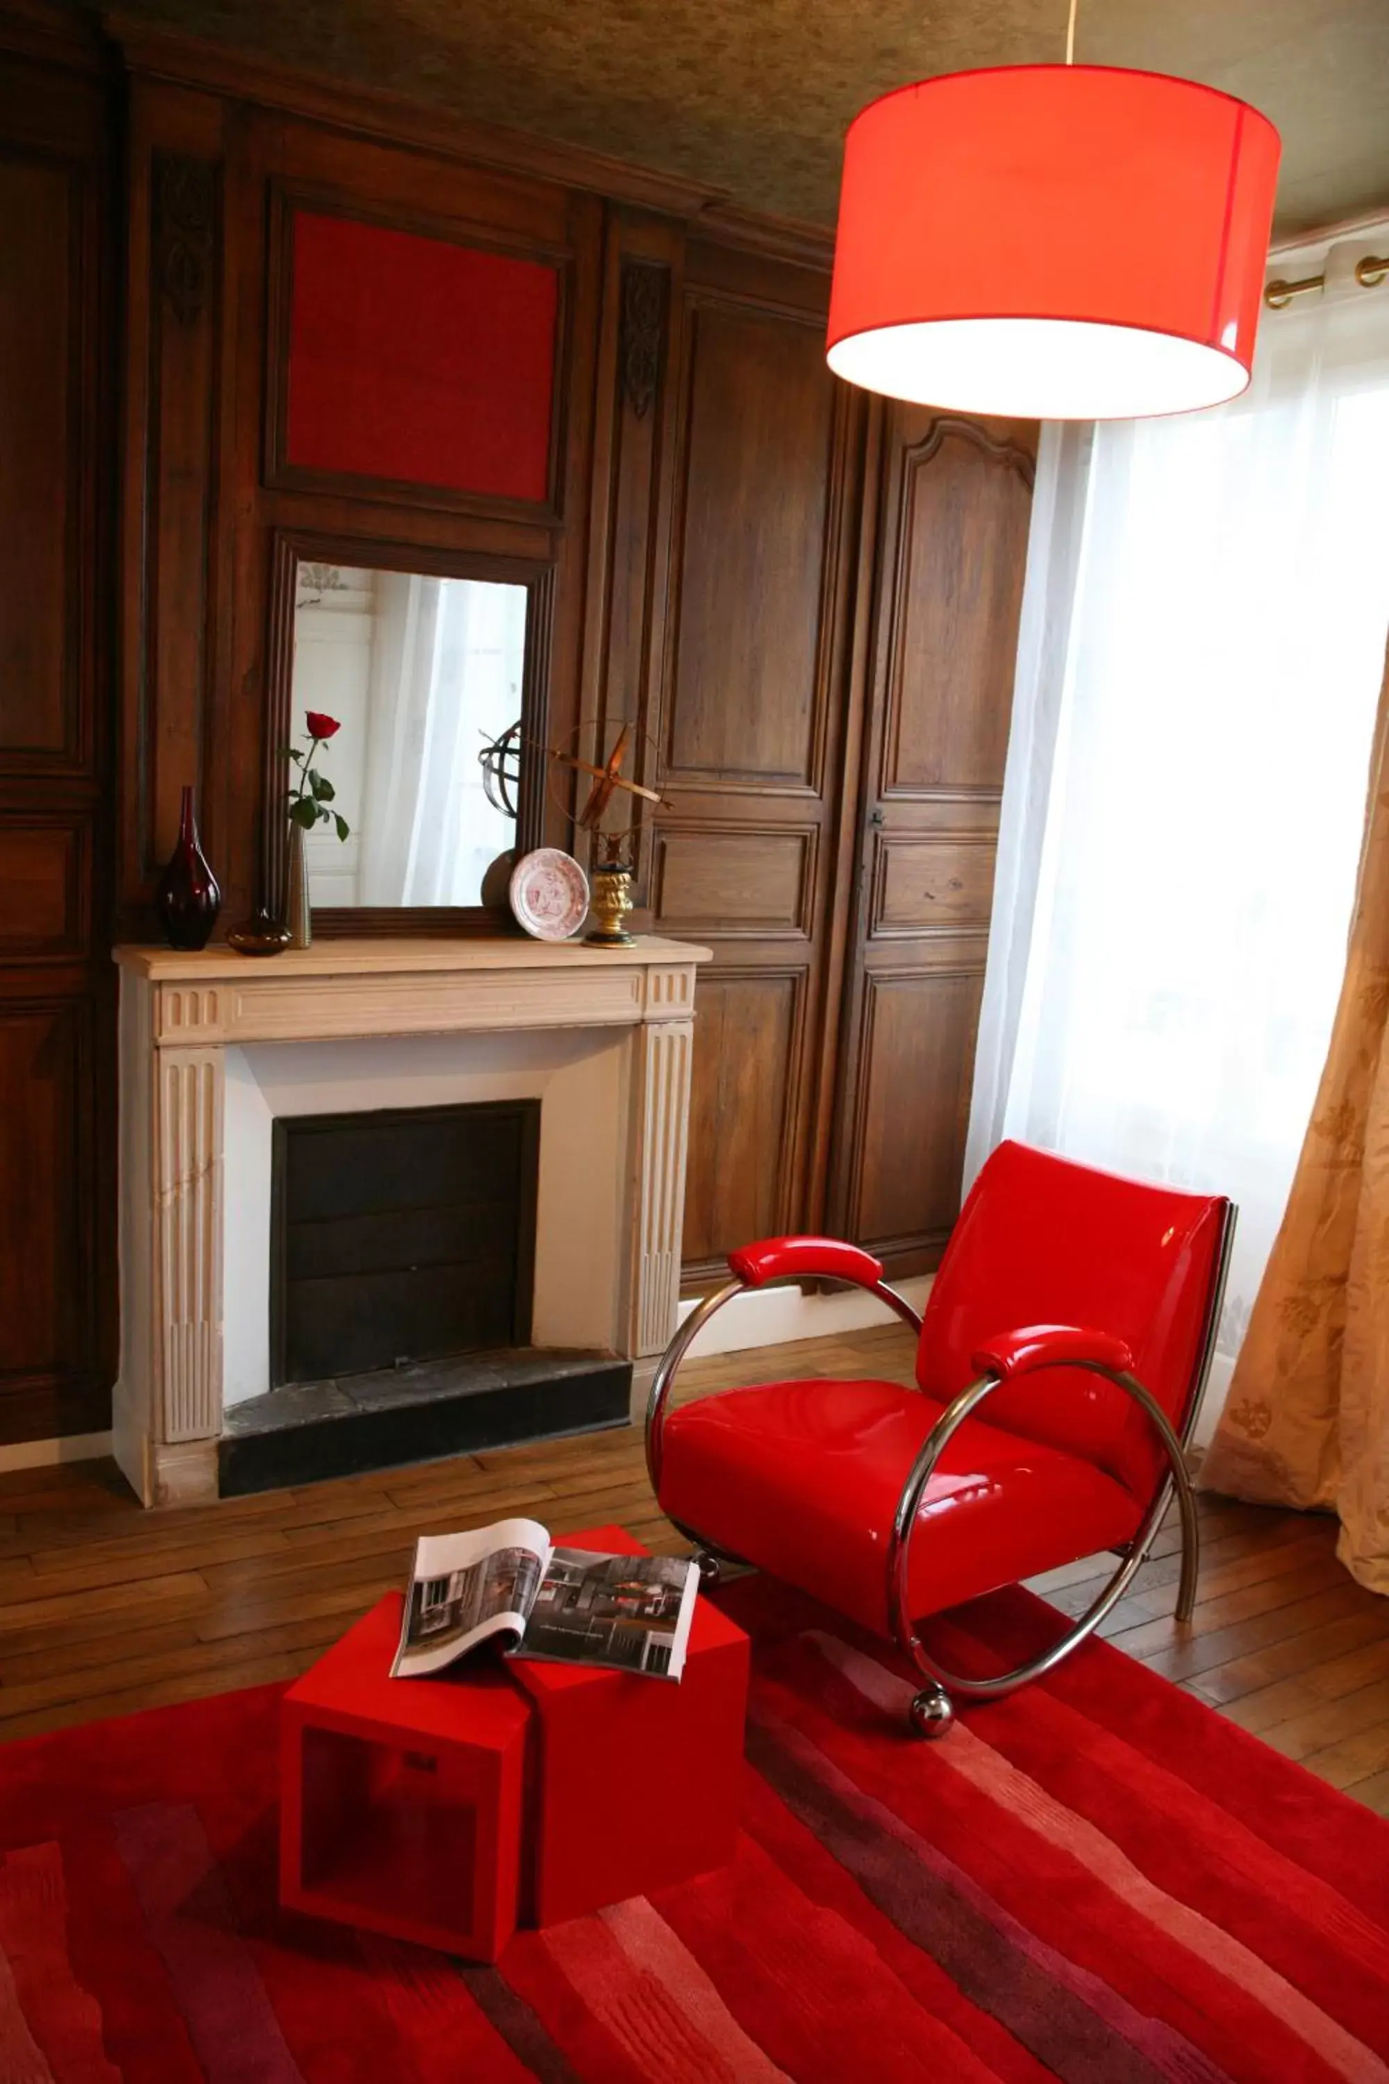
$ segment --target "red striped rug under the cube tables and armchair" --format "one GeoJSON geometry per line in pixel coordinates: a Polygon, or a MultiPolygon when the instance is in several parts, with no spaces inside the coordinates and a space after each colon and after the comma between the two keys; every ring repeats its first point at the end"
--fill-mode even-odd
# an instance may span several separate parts
{"type": "MultiPolygon", "coordinates": [[[[1102,1644],[920,1744],[883,1646],[725,1601],[737,1863],[496,1969],[277,1911],[277,1688],[0,1751],[0,2084],[1389,2080],[1387,1824],[1102,1644]]],[[[1004,1594],[941,1646],[1054,1626],[1004,1594]]]]}

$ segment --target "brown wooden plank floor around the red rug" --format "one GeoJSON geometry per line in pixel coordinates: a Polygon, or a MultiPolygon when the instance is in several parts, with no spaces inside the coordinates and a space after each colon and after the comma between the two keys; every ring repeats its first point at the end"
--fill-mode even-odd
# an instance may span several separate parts
{"type": "MultiPolygon", "coordinates": [[[[912,1380],[898,1325],[693,1361],[681,1390],[779,1375],[912,1380]]],[[[112,1463],[0,1475],[0,1738],[289,1680],[383,1590],[419,1534],[533,1513],[683,1542],[635,1430],[546,1440],[300,1490],[144,1513],[112,1463]]],[[[1389,1601],[1335,1559],[1335,1521],[1202,1498],[1202,1588],[1172,1623],[1177,1528],[1106,1621],[1118,1648],[1389,1815],[1389,1601]]],[[[1037,1590],[1081,1611],[1108,1576],[1037,1590]]]]}

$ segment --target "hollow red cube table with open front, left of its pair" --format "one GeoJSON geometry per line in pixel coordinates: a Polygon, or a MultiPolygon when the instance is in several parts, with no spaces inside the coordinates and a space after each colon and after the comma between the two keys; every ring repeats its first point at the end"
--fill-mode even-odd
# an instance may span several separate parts
{"type": "Polygon", "coordinates": [[[400,1609],[387,1594],[285,1694],[279,1901],[496,1961],[516,1926],[529,1705],[489,1661],[392,1680],[400,1609]]]}

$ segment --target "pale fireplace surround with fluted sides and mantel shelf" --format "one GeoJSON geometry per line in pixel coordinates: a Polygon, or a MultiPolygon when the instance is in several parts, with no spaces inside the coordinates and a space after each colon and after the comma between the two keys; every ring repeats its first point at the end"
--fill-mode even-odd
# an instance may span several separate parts
{"type": "Polygon", "coordinates": [[[539,1098],[533,1342],[650,1375],[677,1323],[706,957],[658,938],[119,948],[112,1448],[144,1503],[214,1496],[223,1409],[269,1388],[277,1115],[539,1098]]]}

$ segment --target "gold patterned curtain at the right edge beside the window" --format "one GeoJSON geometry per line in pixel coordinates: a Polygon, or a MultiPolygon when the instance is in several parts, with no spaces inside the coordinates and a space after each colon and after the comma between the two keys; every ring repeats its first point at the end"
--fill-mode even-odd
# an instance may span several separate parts
{"type": "Polygon", "coordinates": [[[1327,1069],[1202,1484],[1339,1513],[1389,1592],[1389,659],[1327,1069]]]}

